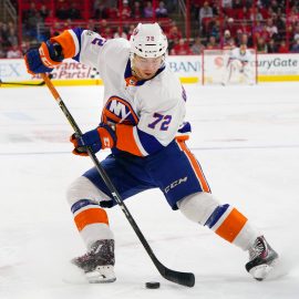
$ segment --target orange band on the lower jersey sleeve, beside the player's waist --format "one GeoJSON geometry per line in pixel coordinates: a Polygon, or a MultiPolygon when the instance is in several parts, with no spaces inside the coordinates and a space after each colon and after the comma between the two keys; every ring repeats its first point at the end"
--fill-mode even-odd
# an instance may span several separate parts
{"type": "Polygon", "coordinates": [[[136,156],[143,156],[136,144],[132,125],[116,125],[116,147],[136,156]]]}

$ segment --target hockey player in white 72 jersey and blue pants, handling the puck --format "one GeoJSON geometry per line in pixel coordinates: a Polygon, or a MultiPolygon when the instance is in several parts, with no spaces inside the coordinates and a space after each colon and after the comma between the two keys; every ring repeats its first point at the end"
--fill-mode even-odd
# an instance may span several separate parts
{"type": "MultiPolygon", "coordinates": [[[[85,156],[111,148],[101,162],[122,198],[159,188],[171,208],[206,226],[249,252],[246,269],[262,280],[278,255],[260,231],[235,207],[210,193],[199,163],[184,134],[186,93],[165,64],[167,39],[157,23],[140,23],[131,40],[105,40],[100,34],[66,30],[25,54],[29,73],[51,72],[72,58],[96,68],[104,81],[101,123],[82,136],[72,135],[73,153],[85,156]],[[169,172],[169,168],[172,172],[169,172]]],[[[93,167],[68,190],[74,223],[87,251],[72,261],[90,282],[114,281],[114,237],[105,208],[115,206],[93,167]]]]}

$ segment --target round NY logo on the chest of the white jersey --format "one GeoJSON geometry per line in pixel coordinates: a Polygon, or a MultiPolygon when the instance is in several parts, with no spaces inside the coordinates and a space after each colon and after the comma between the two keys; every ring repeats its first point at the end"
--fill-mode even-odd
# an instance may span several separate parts
{"type": "Polygon", "coordinates": [[[114,95],[107,100],[103,109],[102,122],[136,125],[138,123],[138,116],[128,102],[114,95]]]}

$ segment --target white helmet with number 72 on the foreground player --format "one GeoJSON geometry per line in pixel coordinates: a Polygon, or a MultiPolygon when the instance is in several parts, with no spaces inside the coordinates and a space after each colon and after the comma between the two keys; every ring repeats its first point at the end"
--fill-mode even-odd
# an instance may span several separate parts
{"type": "Polygon", "coordinates": [[[131,52],[142,58],[158,58],[166,53],[168,42],[158,23],[142,24],[134,29],[131,52]]]}

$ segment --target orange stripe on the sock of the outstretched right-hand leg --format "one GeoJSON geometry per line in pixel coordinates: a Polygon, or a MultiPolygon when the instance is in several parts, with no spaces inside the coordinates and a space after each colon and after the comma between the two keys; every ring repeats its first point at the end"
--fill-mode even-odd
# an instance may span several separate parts
{"type": "Polygon", "coordinates": [[[229,213],[223,224],[216,229],[216,234],[233,243],[245,226],[247,218],[240,214],[236,208],[229,213]]]}

